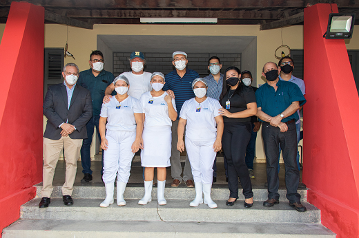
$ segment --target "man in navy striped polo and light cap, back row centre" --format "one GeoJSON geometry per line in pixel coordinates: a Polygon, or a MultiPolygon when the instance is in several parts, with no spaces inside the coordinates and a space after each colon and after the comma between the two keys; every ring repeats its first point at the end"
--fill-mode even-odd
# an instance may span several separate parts
{"type": "MultiPolygon", "coordinates": [[[[175,66],[175,70],[166,74],[166,84],[164,85],[164,91],[172,90],[175,94],[175,102],[177,111],[181,111],[183,103],[190,99],[194,98],[195,94],[192,89],[192,82],[195,78],[200,78],[200,75],[192,69],[187,69],[186,65],[188,63],[187,54],[185,52],[173,52],[172,54],[172,64],[175,66]]],[[[170,158],[171,162],[171,176],[173,182],[171,186],[177,187],[182,181],[181,173],[181,155],[177,151],[177,127],[178,127],[179,113],[177,120],[172,123],[172,155],[170,158]]],[[[188,187],[193,188],[195,184],[192,181],[192,171],[191,164],[189,163],[188,158],[186,157],[186,162],[184,163],[183,170],[183,180],[188,187]]]]}

